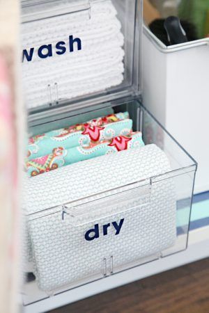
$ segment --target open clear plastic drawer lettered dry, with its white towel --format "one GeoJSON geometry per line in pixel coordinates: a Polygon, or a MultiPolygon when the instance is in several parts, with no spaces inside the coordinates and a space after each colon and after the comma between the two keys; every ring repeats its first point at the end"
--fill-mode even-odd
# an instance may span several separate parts
{"type": "MultiPolygon", "coordinates": [[[[25,304],[187,248],[195,161],[137,100],[104,108],[127,111],[146,146],[26,180],[27,258],[36,280],[25,284],[25,304]]],[[[59,125],[83,114],[58,118],[59,125]]]]}

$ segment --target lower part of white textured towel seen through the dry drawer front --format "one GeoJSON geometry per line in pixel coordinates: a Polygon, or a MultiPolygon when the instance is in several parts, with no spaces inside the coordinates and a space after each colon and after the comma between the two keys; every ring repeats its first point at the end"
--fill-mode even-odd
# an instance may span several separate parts
{"type": "Polygon", "coordinates": [[[169,180],[154,184],[148,198],[136,189],[124,198],[113,195],[103,204],[96,200],[93,206],[74,209],[81,209],[81,215],[72,216],[73,210],[65,208],[29,222],[38,285],[47,293],[130,268],[176,243],[176,205],[169,180]],[[110,271],[104,271],[104,259],[111,260],[110,271]]]}

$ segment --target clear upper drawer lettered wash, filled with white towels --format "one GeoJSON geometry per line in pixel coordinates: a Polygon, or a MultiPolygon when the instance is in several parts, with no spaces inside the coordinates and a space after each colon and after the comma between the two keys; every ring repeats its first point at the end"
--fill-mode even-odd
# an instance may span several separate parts
{"type": "Polygon", "coordinates": [[[33,113],[140,90],[138,0],[22,1],[22,79],[33,113]]]}

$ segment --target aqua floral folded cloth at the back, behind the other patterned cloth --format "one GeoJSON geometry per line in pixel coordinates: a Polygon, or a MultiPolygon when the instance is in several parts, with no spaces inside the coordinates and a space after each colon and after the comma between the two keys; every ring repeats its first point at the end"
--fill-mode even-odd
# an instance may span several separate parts
{"type": "Polygon", "coordinates": [[[91,141],[97,143],[130,134],[131,131],[132,120],[127,112],[111,114],[84,124],[56,129],[29,138],[27,157],[29,160],[43,157],[52,154],[56,148],[86,147],[91,141]]]}

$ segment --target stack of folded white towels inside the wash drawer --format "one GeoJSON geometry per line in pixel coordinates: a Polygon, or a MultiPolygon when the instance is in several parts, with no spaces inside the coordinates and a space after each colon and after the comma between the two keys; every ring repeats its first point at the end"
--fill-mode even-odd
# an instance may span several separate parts
{"type": "MultiPolygon", "coordinates": [[[[56,1],[54,10],[63,6],[61,3],[56,1]]],[[[24,57],[22,63],[28,109],[122,83],[124,38],[116,9],[111,0],[92,1],[89,15],[87,18],[86,11],[81,11],[22,24],[22,48],[28,54],[34,48],[32,61],[24,57]],[[78,50],[75,42],[74,51],[69,52],[70,35],[82,41],[82,49],[78,50]],[[66,43],[62,55],[56,54],[60,41],[66,43]],[[38,48],[49,44],[53,56],[39,58],[38,48]]]]}

